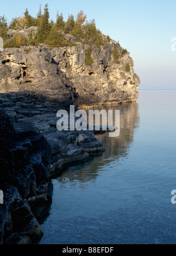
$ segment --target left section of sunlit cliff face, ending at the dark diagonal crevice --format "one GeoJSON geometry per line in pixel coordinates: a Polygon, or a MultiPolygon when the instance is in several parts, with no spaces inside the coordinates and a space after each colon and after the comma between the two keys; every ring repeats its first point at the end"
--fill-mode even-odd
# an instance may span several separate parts
{"type": "Polygon", "coordinates": [[[48,48],[6,49],[0,63],[0,93],[32,90],[47,99],[69,103],[73,89],[48,48]]]}

